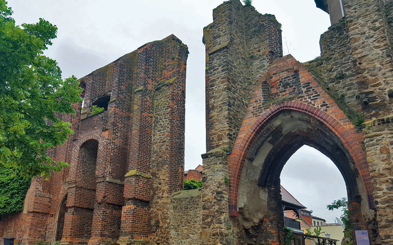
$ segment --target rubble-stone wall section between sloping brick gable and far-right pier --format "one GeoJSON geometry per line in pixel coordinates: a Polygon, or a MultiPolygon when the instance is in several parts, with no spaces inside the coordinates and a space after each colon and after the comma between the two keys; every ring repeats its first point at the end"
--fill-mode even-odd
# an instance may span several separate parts
{"type": "Polygon", "coordinates": [[[362,98],[345,19],[332,25],[321,35],[320,47],[321,56],[304,65],[345,115],[355,123],[356,117],[360,116],[358,112],[362,111],[362,98]]]}

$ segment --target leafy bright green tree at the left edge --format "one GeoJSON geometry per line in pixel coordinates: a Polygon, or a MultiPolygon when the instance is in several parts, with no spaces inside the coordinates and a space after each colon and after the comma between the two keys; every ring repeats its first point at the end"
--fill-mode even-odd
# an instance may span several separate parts
{"type": "Polygon", "coordinates": [[[63,144],[70,123],[56,117],[75,113],[81,101],[76,77],[63,80],[55,60],[43,55],[57,27],[40,19],[15,25],[12,10],[0,0],[0,168],[24,176],[49,176],[68,166],[47,150],[63,144]]]}

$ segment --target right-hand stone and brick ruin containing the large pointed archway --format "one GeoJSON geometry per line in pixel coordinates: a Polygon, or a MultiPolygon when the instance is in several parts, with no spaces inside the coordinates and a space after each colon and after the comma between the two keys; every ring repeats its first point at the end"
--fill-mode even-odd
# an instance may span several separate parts
{"type": "MultiPolygon", "coordinates": [[[[242,9],[238,1],[233,0],[213,11],[213,23],[204,29],[208,151],[202,156],[205,180],[203,195],[206,196],[202,204],[204,243],[281,243],[282,214],[278,214],[279,195],[275,195],[277,192],[274,190],[279,186],[282,167],[277,166],[283,166],[290,155],[304,144],[316,147],[337,163],[337,168],[346,179],[354,227],[368,229],[372,244],[391,242],[388,234],[392,230],[388,228],[391,225],[385,209],[386,203],[381,206],[380,200],[374,199],[375,196],[381,198],[379,191],[389,195],[389,188],[381,189],[381,185],[387,185],[386,179],[390,178],[391,172],[382,170],[381,166],[391,162],[391,156],[380,155],[380,161],[375,163],[378,168],[373,167],[374,163],[367,162],[366,152],[369,149],[364,144],[365,139],[370,141],[373,138],[374,142],[378,142],[373,144],[378,144],[377,147],[387,152],[386,148],[389,147],[382,146],[381,142],[386,143],[384,139],[390,137],[390,128],[385,126],[386,131],[383,130],[378,136],[368,136],[366,131],[361,131],[365,127],[362,124],[364,120],[382,120],[392,112],[392,92],[389,92],[392,87],[390,17],[389,12],[385,11],[391,5],[385,6],[384,0],[344,0],[343,3],[346,18],[321,36],[321,57],[305,64],[308,71],[292,57],[278,59],[281,56],[278,55],[270,59],[265,55],[273,48],[266,43],[269,35],[253,35],[260,26],[257,21],[263,19],[258,14],[248,13],[250,18],[245,18],[249,21],[244,25],[246,38],[234,40],[241,33],[236,31],[242,22],[239,15],[242,11],[250,11],[250,7],[244,6],[242,9]],[[253,18],[257,20],[256,23],[248,25],[253,18]],[[256,28],[252,29],[254,26],[256,28]],[[246,42],[242,43],[244,39],[246,42]],[[231,43],[236,43],[236,47],[232,47],[231,43]],[[254,54],[253,47],[261,47],[260,53],[254,54]],[[239,55],[243,55],[241,59],[239,55]],[[259,66],[258,69],[253,69],[253,63],[250,63],[249,69],[242,70],[244,66],[239,61],[229,62],[232,57],[250,62],[255,55],[259,55],[256,58],[258,63],[254,63],[259,66]],[[237,83],[236,92],[245,95],[231,96],[236,93],[232,90],[233,81],[237,83]],[[222,101],[225,103],[220,104],[220,109],[215,108],[222,101]],[[236,107],[242,106],[236,108],[238,113],[231,108],[234,104],[236,107]],[[313,126],[310,127],[317,128],[318,132],[308,131],[309,126],[297,124],[296,120],[287,125],[283,121],[274,121],[282,115],[295,117],[292,111],[304,113],[301,117],[309,115],[310,118],[307,116],[307,119],[302,120],[311,123],[309,125],[313,126]],[[276,123],[269,124],[273,122],[270,120],[276,123]],[[288,133],[285,130],[289,129],[285,129],[281,132],[280,125],[292,128],[293,131],[288,133]],[[311,135],[319,135],[323,140],[311,135]],[[337,146],[340,149],[336,149],[337,146]],[[254,157],[261,150],[266,153],[266,157],[261,163],[254,163],[254,157]],[[221,157],[225,152],[229,154],[228,160],[221,157]],[[270,162],[277,166],[269,165],[270,162]],[[249,179],[249,176],[242,175],[244,164],[262,165],[261,169],[250,171],[260,171],[260,176],[254,180],[254,187],[242,189],[242,195],[253,188],[265,188],[267,200],[272,198],[269,202],[273,203],[267,205],[261,219],[251,217],[254,225],[247,229],[244,217],[240,215],[248,211],[252,213],[254,209],[244,211],[237,206],[239,188],[244,185],[239,178],[249,179]],[[210,171],[206,172],[205,169],[210,171]],[[225,174],[229,179],[228,189],[221,183],[220,177],[225,174]],[[382,182],[373,179],[377,174],[383,176],[382,182]],[[221,199],[217,191],[224,198],[221,199]],[[226,194],[229,202],[226,202],[226,194]],[[205,207],[216,210],[215,215],[208,214],[205,207]],[[240,211],[243,213],[239,214],[240,211]],[[386,218],[381,218],[379,214],[386,218]],[[228,219],[228,216],[232,218],[228,219]],[[221,233],[216,231],[220,229],[221,233]]],[[[391,3],[388,1],[388,4],[391,3]]],[[[268,20],[264,19],[264,22],[268,20]]],[[[276,36],[275,33],[279,32],[272,32],[272,37],[276,36]]],[[[277,41],[276,44],[281,45],[277,41]]],[[[387,122],[385,119],[382,121],[385,124],[387,122]]],[[[253,196],[257,195],[251,195],[250,198],[253,196]]]]}

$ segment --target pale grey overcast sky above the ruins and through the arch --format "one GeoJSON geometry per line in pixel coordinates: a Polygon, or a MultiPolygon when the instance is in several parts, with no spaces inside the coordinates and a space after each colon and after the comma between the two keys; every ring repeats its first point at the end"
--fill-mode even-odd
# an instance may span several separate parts
{"type": "MultiPolygon", "coordinates": [[[[78,78],[105,66],[145,43],[174,34],[190,51],[186,81],[185,170],[201,164],[205,152],[202,29],[213,21],[222,0],[8,0],[17,24],[44,18],[57,25],[57,39],[46,55],[56,59],[63,77],[78,78]]],[[[319,37],[330,26],[329,16],[313,0],[254,0],[262,14],[282,24],[284,54],[305,62],[320,55],[319,37]]],[[[340,212],[326,210],[346,196],[337,168],[324,155],[302,147],[285,165],[281,184],[313,215],[334,222],[340,212]],[[331,184],[329,186],[328,184],[331,184]]]]}

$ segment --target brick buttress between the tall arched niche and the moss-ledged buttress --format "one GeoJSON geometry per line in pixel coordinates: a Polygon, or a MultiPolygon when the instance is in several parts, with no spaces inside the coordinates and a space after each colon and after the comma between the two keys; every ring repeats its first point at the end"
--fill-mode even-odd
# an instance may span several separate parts
{"type": "Polygon", "coordinates": [[[96,202],[89,245],[116,244],[120,235],[121,208],[124,205],[123,188],[125,163],[128,154],[128,134],[132,107],[132,86],[137,66],[137,52],[112,63],[112,80],[108,86],[108,123],[103,131],[105,149],[100,156],[103,164],[97,166],[96,202]],[[112,154],[111,154],[112,153],[112,154]]]}

